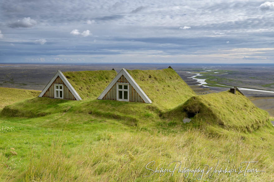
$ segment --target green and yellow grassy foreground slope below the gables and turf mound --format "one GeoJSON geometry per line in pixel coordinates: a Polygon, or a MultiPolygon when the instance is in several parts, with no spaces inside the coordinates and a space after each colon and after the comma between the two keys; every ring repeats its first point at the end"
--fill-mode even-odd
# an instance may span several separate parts
{"type": "MultiPolygon", "coordinates": [[[[53,104],[53,99],[42,99],[55,111],[35,118],[0,116],[0,126],[6,128],[0,133],[0,165],[7,163],[0,171],[2,181],[182,181],[180,173],[142,177],[151,174],[145,169],[147,163],[168,166],[174,160],[191,168],[214,167],[219,160],[218,168],[223,169],[259,161],[252,167],[266,171],[246,177],[215,174],[212,180],[217,181],[271,181],[274,177],[273,127],[263,126],[251,133],[223,129],[224,133],[212,135],[192,122],[184,125],[160,118],[151,104],[110,100],[58,103],[57,99],[53,104]],[[119,112],[110,111],[116,107],[119,112]],[[11,157],[10,148],[16,156],[11,157]]],[[[193,181],[195,176],[188,179],[193,181]]],[[[208,175],[203,179],[209,180],[208,175]]]]}

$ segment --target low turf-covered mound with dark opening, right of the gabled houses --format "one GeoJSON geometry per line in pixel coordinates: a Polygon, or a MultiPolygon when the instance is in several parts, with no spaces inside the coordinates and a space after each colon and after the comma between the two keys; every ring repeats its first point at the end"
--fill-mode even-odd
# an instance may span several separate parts
{"type": "Polygon", "coordinates": [[[182,119],[194,118],[201,124],[217,124],[223,128],[254,131],[266,125],[269,114],[257,108],[247,97],[229,91],[191,97],[187,102],[166,113],[182,119]]]}

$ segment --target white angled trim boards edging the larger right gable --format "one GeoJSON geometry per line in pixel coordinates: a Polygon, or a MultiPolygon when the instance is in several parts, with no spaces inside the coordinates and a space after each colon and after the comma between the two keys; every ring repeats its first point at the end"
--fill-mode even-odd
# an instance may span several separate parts
{"type": "Polygon", "coordinates": [[[137,91],[137,93],[140,95],[140,97],[144,100],[145,103],[147,103],[147,104],[152,103],[151,100],[149,99],[149,97],[144,93],[144,91],[141,89],[141,87],[135,82],[135,80],[131,77],[131,75],[125,70],[125,68],[121,69],[121,71],[116,75],[116,77],[110,82],[110,84],[101,93],[101,95],[98,97],[98,99],[103,99],[103,97],[114,86],[114,84],[116,84],[116,82],[119,80],[119,78],[122,75],[124,75],[124,77],[131,84],[131,86],[135,89],[135,91],[137,91]]]}

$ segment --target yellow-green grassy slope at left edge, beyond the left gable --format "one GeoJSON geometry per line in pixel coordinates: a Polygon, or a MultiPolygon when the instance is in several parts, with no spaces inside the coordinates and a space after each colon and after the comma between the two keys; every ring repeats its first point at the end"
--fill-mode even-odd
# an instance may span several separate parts
{"type": "Polygon", "coordinates": [[[19,100],[38,96],[40,92],[41,91],[36,90],[0,87],[0,110],[4,106],[17,102],[19,100]]]}

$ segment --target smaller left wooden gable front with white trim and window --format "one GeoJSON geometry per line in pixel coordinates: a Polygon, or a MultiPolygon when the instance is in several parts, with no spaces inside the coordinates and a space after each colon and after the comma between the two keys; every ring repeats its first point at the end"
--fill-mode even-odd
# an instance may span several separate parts
{"type": "Polygon", "coordinates": [[[38,97],[82,100],[60,70],[54,74],[38,97]]]}

